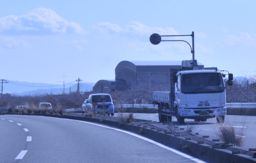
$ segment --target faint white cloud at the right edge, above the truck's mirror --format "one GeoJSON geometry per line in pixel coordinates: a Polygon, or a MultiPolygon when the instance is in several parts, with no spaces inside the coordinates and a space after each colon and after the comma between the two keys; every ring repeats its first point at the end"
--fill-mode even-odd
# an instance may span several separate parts
{"type": "Polygon", "coordinates": [[[241,32],[239,36],[226,35],[218,44],[221,46],[256,46],[256,34],[241,32]]]}

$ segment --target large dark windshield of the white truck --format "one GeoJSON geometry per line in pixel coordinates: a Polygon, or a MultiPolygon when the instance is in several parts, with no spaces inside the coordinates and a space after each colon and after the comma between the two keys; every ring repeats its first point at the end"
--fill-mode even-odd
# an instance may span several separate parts
{"type": "Polygon", "coordinates": [[[191,73],[181,77],[181,92],[184,94],[221,93],[224,83],[220,73],[191,73]]]}

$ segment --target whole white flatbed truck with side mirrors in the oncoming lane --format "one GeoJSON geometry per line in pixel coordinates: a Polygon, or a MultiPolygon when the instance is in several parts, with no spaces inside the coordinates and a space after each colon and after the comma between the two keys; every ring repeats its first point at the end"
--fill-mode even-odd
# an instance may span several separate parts
{"type": "Polygon", "coordinates": [[[170,92],[152,92],[152,102],[158,105],[159,121],[172,122],[172,116],[178,124],[184,119],[204,122],[208,118],[217,117],[223,123],[226,115],[227,85],[232,86],[233,74],[212,68],[199,70],[197,66],[190,68],[182,61],[180,69],[170,69],[170,92]],[[228,80],[225,83],[225,75],[228,80]]]}

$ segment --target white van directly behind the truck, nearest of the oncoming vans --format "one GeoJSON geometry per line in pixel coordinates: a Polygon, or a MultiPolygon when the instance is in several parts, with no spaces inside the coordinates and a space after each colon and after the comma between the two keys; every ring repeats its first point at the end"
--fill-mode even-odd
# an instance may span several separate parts
{"type": "Polygon", "coordinates": [[[95,111],[97,113],[105,112],[105,114],[114,116],[114,100],[112,100],[110,94],[90,94],[88,98],[88,110],[95,111]]]}

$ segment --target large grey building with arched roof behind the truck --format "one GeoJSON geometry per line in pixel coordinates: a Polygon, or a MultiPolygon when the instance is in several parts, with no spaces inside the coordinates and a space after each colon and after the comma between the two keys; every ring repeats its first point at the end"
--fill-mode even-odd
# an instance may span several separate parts
{"type": "MultiPolygon", "coordinates": [[[[198,63],[199,69],[204,66],[198,63]]],[[[115,68],[114,80],[99,80],[94,92],[122,90],[138,85],[170,87],[170,69],[181,69],[182,61],[121,61],[115,68]]]]}

